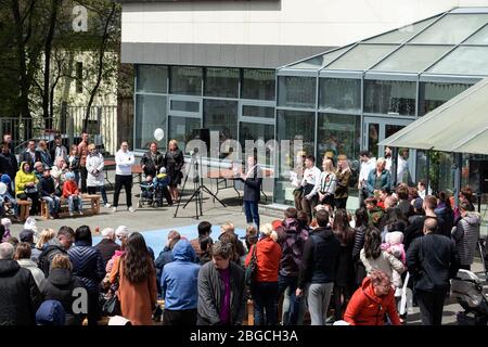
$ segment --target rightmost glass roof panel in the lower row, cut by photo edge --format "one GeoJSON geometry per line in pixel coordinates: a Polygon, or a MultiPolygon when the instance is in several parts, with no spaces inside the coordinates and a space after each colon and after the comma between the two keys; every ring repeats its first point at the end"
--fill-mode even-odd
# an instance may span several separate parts
{"type": "Polygon", "coordinates": [[[488,75],[488,47],[460,46],[427,72],[452,75],[488,75]]]}

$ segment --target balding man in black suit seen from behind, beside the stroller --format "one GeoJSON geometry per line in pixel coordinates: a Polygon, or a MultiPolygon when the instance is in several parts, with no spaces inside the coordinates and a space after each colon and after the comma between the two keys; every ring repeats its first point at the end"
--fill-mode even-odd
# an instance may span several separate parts
{"type": "Polygon", "coordinates": [[[437,233],[437,220],[426,218],[424,235],[407,252],[407,267],[413,278],[422,324],[440,325],[449,279],[458,274],[460,260],[454,243],[437,233]]]}

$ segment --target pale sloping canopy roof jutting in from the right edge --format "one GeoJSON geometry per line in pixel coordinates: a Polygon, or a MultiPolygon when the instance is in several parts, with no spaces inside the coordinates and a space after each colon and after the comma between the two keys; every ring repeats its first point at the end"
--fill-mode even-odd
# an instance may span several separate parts
{"type": "Polygon", "coordinates": [[[488,78],[383,140],[380,145],[488,154],[488,78]]]}

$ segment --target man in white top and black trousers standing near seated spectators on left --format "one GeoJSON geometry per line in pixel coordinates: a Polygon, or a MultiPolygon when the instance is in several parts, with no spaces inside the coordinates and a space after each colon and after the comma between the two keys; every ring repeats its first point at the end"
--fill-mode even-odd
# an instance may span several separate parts
{"type": "Polygon", "coordinates": [[[115,191],[114,204],[112,210],[117,211],[118,195],[124,187],[126,190],[127,208],[133,213],[132,207],[132,165],[134,164],[133,153],[129,151],[129,144],[124,141],[120,144],[120,150],[115,154],[115,191]]]}

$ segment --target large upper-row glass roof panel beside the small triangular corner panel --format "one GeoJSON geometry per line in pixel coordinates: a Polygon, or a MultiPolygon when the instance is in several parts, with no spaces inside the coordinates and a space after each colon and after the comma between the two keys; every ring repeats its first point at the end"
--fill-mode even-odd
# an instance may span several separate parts
{"type": "Polygon", "coordinates": [[[410,43],[458,44],[488,22],[488,14],[448,14],[410,43]]]}

